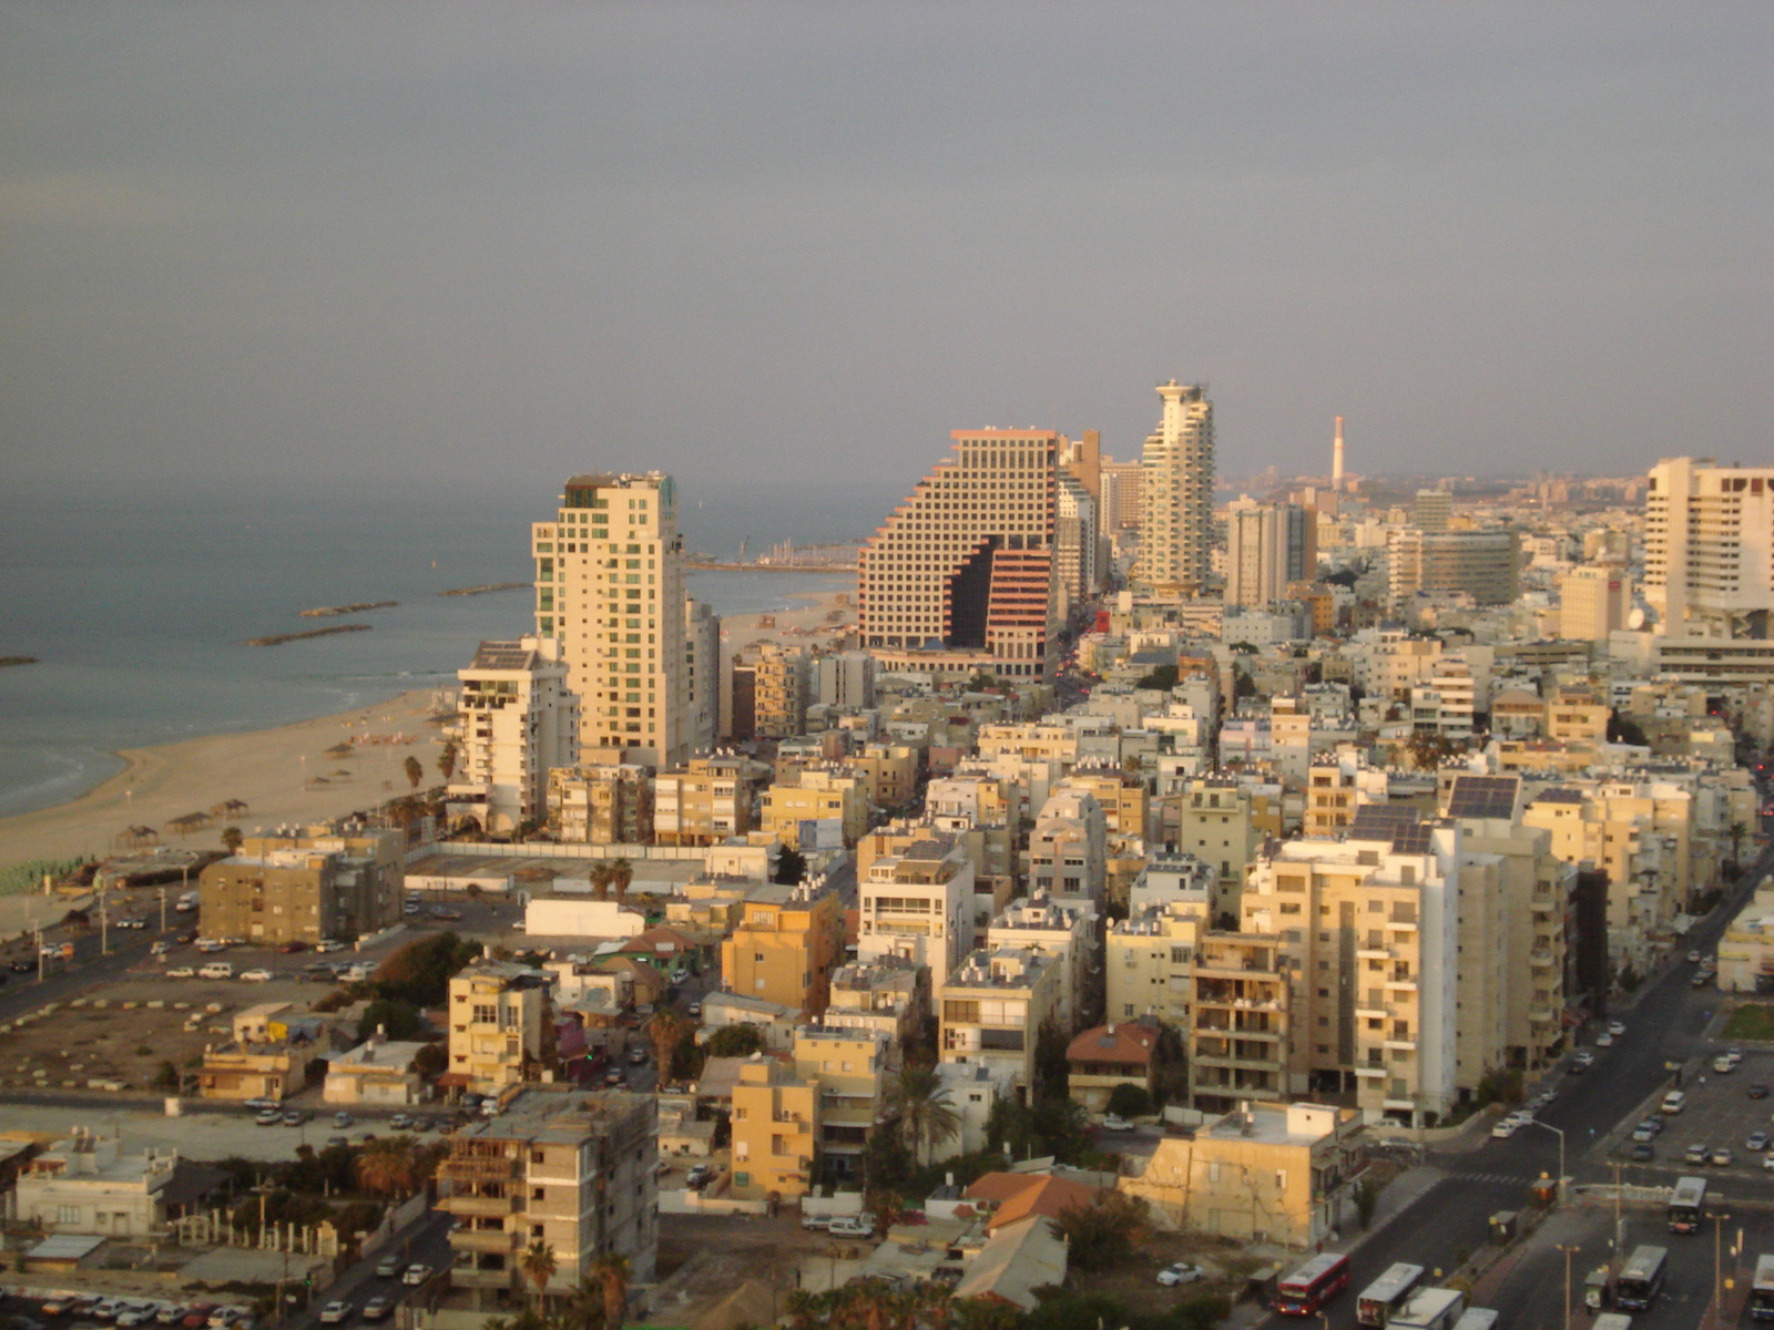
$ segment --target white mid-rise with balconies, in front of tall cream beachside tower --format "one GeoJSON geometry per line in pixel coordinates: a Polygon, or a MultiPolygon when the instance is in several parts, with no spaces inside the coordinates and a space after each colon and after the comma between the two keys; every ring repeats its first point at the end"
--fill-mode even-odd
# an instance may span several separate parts
{"type": "Polygon", "coordinates": [[[511,832],[548,816],[548,771],[578,752],[578,699],[561,644],[545,637],[483,642],[461,681],[456,771],[444,793],[451,825],[511,832]]]}

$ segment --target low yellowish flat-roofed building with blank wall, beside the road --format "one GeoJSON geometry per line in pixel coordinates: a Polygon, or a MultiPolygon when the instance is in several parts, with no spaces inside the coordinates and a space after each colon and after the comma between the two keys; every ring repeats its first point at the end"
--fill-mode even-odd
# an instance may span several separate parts
{"type": "Polygon", "coordinates": [[[1311,1250],[1346,1229],[1366,1151],[1354,1108],[1251,1103],[1128,1163],[1116,1186],[1160,1227],[1311,1250]]]}

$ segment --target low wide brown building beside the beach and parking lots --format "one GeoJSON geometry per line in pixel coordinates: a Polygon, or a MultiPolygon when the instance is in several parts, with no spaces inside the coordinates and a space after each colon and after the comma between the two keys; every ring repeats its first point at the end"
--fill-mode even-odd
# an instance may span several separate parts
{"type": "Polygon", "coordinates": [[[312,947],[383,929],[401,917],[403,849],[399,832],[248,835],[197,880],[204,935],[312,947]]]}

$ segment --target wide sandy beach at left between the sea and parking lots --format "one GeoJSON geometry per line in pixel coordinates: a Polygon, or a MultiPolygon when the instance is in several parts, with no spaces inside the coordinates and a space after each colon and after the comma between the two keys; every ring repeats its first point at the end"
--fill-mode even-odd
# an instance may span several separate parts
{"type": "Polygon", "coordinates": [[[369,809],[408,793],[401,770],[408,755],[424,763],[422,786],[438,784],[444,741],[438,727],[426,724],[431,700],[429,690],[419,690],[279,729],[126,748],[119,755],[130,766],[80,798],[0,818],[0,865],[103,858],[117,851],[117,835],[137,825],[160,832],[161,844],[200,849],[218,846],[231,825],[250,833],[369,809]],[[351,745],[348,757],[325,755],[339,743],[351,745]],[[225,800],[241,800],[247,810],[183,837],[167,826],[225,800]]]}

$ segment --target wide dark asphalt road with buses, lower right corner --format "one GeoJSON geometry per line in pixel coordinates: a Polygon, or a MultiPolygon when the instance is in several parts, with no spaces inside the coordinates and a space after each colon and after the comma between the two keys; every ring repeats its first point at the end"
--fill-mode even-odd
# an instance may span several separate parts
{"type": "MultiPolygon", "coordinates": [[[[1703,952],[1715,949],[1719,935],[1756,883],[1774,867],[1774,849],[1763,851],[1756,865],[1744,874],[1739,887],[1726,901],[1714,910],[1689,935],[1689,945],[1703,952]]],[[[1325,1330],[1354,1330],[1355,1298],[1373,1279],[1393,1261],[1410,1261],[1433,1273],[1451,1273],[1467,1256],[1480,1250],[1488,1241],[1490,1215],[1503,1209],[1520,1209],[1526,1201],[1527,1183],[1540,1176],[1554,1177],[1559,1169],[1559,1131],[1565,1142],[1566,1176],[1577,1183],[1609,1183],[1614,1170],[1602,1154],[1600,1142],[1609,1131],[1629,1117],[1639,1115],[1639,1107],[1653,1092],[1668,1084],[1666,1062],[1687,1060],[1707,1048],[1703,1039],[1710,1013],[1719,1005],[1719,993],[1712,988],[1694,990],[1692,966],[1671,965],[1639,997],[1636,1009],[1623,1014],[1627,1036],[1611,1050],[1595,1050],[1595,1066],[1581,1076],[1565,1076],[1558,1099],[1540,1115],[1543,1126],[1533,1126],[1515,1133],[1506,1140],[1487,1138],[1478,1149],[1464,1153],[1430,1154],[1430,1163],[1442,1170],[1440,1181],[1430,1186],[1405,1209],[1398,1211],[1377,1232],[1362,1241],[1352,1254],[1354,1271],[1350,1295],[1338,1298],[1327,1309],[1325,1330]],[[1545,1128],[1556,1128],[1545,1130],[1545,1128]]],[[[1637,1169],[1629,1165],[1625,1181],[1668,1183],[1673,1170],[1668,1167],[1637,1169]]],[[[1760,1177],[1733,1177],[1731,1186],[1739,1192],[1754,1192],[1774,1202],[1774,1185],[1760,1177]]],[[[1646,1220],[1655,1229],[1655,1218],[1646,1220]]],[[[1556,1217],[1563,1222],[1565,1217],[1556,1217]]],[[[1650,1229],[1646,1229],[1650,1231],[1650,1229]]],[[[1559,1302],[1552,1295],[1545,1302],[1545,1271],[1540,1261],[1540,1245],[1547,1238],[1538,1238],[1535,1261],[1524,1261],[1517,1284],[1508,1284],[1508,1296],[1517,1302],[1520,1321],[1515,1325],[1554,1325],[1558,1323],[1559,1302]],[[1550,1309],[1550,1316],[1535,1312],[1550,1309]]],[[[1691,1270],[1691,1252],[1696,1243],[1682,1247],[1682,1286],[1694,1284],[1691,1270]]],[[[1703,1243],[1710,1261],[1712,1243],[1703,1243]]],[[[1558,1252],[1554,1250],[1554,1256],[1558,1252]]],[[[1586,1248],[1588,1257],[1588,1248],[1586,1248]]],[[[1671,1254],[1671,1263],[1676,1257],[1671,1254]]],[[[1563,1257],[1558,1257],[1558,1280],[1563,1287],[1563,1257]]],[[[1675,1270],[1671,1284],[1675,1286],[1675,1270]]],[[[1577,1275],[1581,1282],[1581,1275],[1577,1275]]],[[[1710,1266],[1707,1271],[1710,1280],[1710,1266]]],[[[1708,1282],[1710,1289],[1710,1282],[1708,1282]]],[[[1701,1303],[1671,1296],[1653,1312],[1657,1330],[1692,1330],[1699,1323],[1701,1303]]],[[[1265,1330],[1283,1330],[1299,1325],[1293,1318],[1274,1316],[1265,1321],[1265,1330]]]]}

